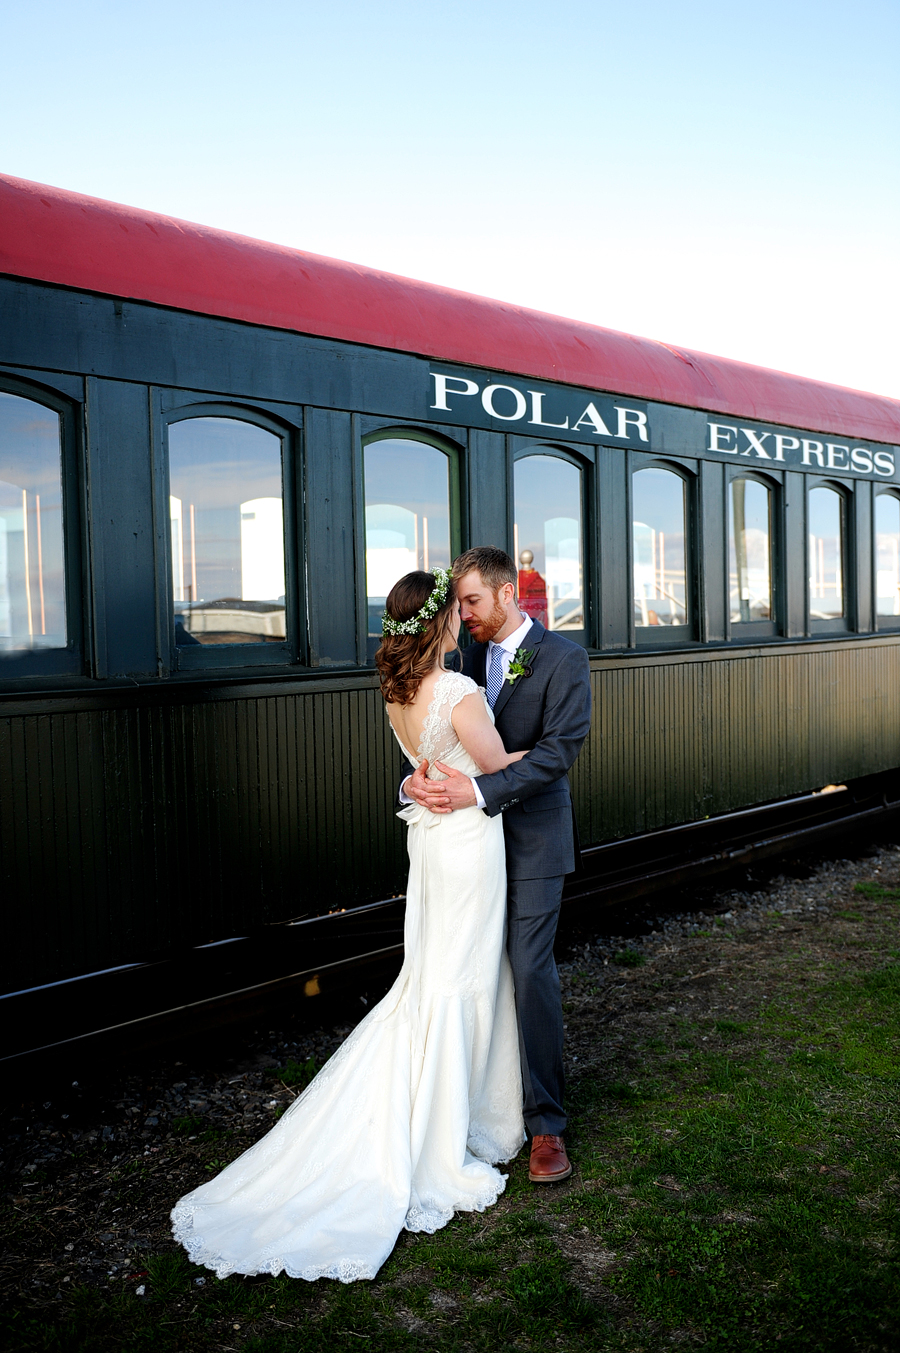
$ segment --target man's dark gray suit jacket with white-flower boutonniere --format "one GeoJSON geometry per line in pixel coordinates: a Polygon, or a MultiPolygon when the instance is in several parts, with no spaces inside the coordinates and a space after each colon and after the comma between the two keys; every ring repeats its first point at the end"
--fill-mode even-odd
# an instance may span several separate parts
{"type": "MultiPolygon", "coordinates": [[[[539,621],[522,640],[533,649],[531,676],[503,682],[494,720],[509,752],[533,748],[524,760],[478,775],[486,812],[503,813],[509,878],[554,878],[575,869],[568,770],[590,729],[587,653],[539,621]]],[[[463,672],[486,683],[487,644],[463,653],[463,672]]]]}

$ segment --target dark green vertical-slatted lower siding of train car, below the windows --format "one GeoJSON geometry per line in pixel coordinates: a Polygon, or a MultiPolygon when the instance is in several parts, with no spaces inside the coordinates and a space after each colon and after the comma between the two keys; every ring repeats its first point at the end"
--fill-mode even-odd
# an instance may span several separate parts
{"type": "MultiPolygon", "coordinates": [[[[594,660],[582,843],[900,766],[900,643],[594,660]]],[[[0,718],[4,989],[402,892],[376,686],[0,718]]],[[[141,702],[138,702],[141,701],[141,702]]]]}

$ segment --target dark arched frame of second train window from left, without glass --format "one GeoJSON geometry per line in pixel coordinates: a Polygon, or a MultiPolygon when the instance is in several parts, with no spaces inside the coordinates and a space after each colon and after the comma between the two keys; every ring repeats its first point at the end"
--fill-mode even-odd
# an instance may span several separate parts
{"type": "Polygon", "coordinates": [[[283,670],[302,664],[303,636],[306,635],[306,598],[299,586],[302,555],[300,494],[302,483],[302,421],[299,417],[273,414],[258,405],[238,400],[204,400],[173,403],[160,410],[160,464],[156,476],[156,534],[158,541],[160,586],[157,595],[157,625],[160,656],[169,672],[221,671],[233,674],[238,668],[283,670]],[[272,433],[282,444],[282,505],[284,524],[284,632],[283,643],[267,644],[211,644],[179,645],[172,624],[175,579],[172,576],[172,536],[169,525],[169,428],[195,418],[229,418],[252,423],[272,433]]]}

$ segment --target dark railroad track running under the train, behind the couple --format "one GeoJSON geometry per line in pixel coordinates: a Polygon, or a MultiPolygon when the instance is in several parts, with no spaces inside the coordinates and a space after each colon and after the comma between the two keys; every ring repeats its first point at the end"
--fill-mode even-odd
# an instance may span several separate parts
{"type": "MultiPolygon", "coordinates": [[[[568,921],[849,833],[900,823],[900,773],[610,842],[583,852],[563,896],[568,921]]],[[[288,1000],[380,992],[403,951],[403,897],[305,916],[0,999],[3,1061],[37,1068],[110,1055],[252,1020],[288,1000]],[[191,999],[185,1000],[185,993],[191,999]]],[[[318,1013],[318,1011],[317,1011],[318,1013]]],[[[310,1005],[313,1015],[313,1005],[310,1005]]]]}

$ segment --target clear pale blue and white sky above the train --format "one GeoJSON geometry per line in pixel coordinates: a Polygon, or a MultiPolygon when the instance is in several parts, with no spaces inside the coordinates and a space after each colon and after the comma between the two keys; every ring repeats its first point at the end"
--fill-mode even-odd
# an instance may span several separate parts
{"type": "Polygon", "coordinates": [[[899,0],[0,19],[0,172],[900,398],[899,0]]]}

